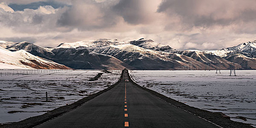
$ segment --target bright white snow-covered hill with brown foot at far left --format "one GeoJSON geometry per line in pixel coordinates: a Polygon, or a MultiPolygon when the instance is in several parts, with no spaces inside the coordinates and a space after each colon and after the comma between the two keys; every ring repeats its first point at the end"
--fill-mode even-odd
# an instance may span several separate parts
{"type": "Polygon", "coordinates": [[[0,47],[0,68],[1,69],[70,69],[65,65],[49,61],[25,50],[11,52],[10,50],[0,47]]]}

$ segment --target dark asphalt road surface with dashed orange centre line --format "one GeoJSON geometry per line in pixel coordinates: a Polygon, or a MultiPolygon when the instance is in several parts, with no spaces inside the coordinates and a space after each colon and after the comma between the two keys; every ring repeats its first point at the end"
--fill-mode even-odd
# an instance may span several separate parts
{"type": "Polygon", "coordinates": [[[125,122],[132,128],[218,128],[194,114],[170,105],[131,82],[125,82],[125,78],[128,79],[127,74],[124,74],[122,81],[113,89],[37,128],[122,128],[125,127],[125,122]],[[125,114],[128,114],[128,117],[125,117],[125,114]]]}

